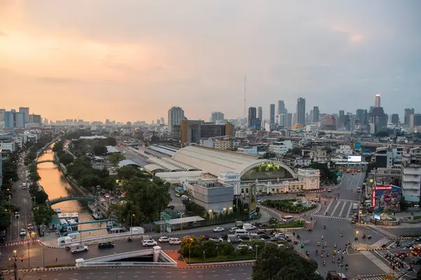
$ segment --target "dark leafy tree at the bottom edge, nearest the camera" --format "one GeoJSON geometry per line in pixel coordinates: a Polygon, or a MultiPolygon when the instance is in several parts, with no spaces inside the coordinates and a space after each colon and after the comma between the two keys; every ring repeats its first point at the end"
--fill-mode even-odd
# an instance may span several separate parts
{"type": "Polygon", "coordinates": [[[253,280],[323,280],[316,269],[314,260],[302,258],[293,247],[267,244],[253,265],[253,280]]]}

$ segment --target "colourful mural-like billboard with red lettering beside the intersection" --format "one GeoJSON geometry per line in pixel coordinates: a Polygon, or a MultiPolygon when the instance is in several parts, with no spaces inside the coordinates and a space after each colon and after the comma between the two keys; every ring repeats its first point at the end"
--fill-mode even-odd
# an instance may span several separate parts
{"type": "MultiPolygon", "coordinates": [[[[375,186],[375,211],[399,212],[401,204],[401,187],[398,186],[375,186]]],[[[373,198],[374,197],[374,198],[373,198]]],[[[373,204],[372,204],[373,206],[373,204]]]]}

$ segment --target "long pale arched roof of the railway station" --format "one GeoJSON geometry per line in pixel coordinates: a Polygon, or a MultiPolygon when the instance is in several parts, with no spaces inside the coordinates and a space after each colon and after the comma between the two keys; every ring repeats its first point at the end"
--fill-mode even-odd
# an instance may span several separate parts
{"type": "Polygon", "coordinates": [[[257,156],[246,155],[230,151],[222,151],[215,148],[203,146],[187,146],[178,150],[172,157],[173,160],[182,162],[185,165],[196,167],[203,171],[218,176],[220,172],[236,172],[241,175],[246,174],[250,169],[262,165],[262,163],[272,163],[286,169],[293,178],[297,174],[284,165],[282,162],[259,159],[257,156]]]}

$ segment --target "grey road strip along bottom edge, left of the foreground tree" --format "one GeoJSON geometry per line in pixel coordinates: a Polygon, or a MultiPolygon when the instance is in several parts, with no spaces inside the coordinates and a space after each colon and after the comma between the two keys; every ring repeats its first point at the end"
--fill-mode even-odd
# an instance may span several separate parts
{"type": "MultiPolygon", "coordinates": [[[[78,269],[51,272],[28,272],[19,274],[22,279],[42,280],[96,280],[96,279],[251,279],[251,266],[210,267],[206,269],[78,269]]],[[[8,275],[5,279],[12,279],[8,275]],[[9,278],[8,278],[9,277],[9,278]]]]}

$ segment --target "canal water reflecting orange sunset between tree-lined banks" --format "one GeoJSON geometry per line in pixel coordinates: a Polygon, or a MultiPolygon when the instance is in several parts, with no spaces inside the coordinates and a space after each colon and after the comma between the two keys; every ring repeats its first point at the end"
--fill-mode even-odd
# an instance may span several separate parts
{"type": "MultiPolygon", "coordinates": [[[[38,160],[53,160],[53,151],[48,150],[47,153],[41,155],[38,160]]],[[[80,196],[78,190],[72,188],[67,183],[67,180],[63,177],[61,170],[53,162],[45,162],[38,165],[38,173],[41,177],[39,181],[40,185],[44,188],[48,194],[48,199],[53,200],[58,197],[67,197],[69,195],[80,196]]],[[[67,202],[60,202],[54,204],[52,208],[60,208],[62,213],[74,213],[79,214],[79,222],[95,221],[91,215],[91,211],[88,209],[87,202],[80,202],[76,200],[69,200],[67,202]]],[[[88,223],[79,225],[79,230],[89,230],[93,228],[105,228],[106,223],[88,223]]],[[[106,235],[107,230],[93,230],[90,232],[82,232],[82,237],[89,235],[106,235]]]]}

